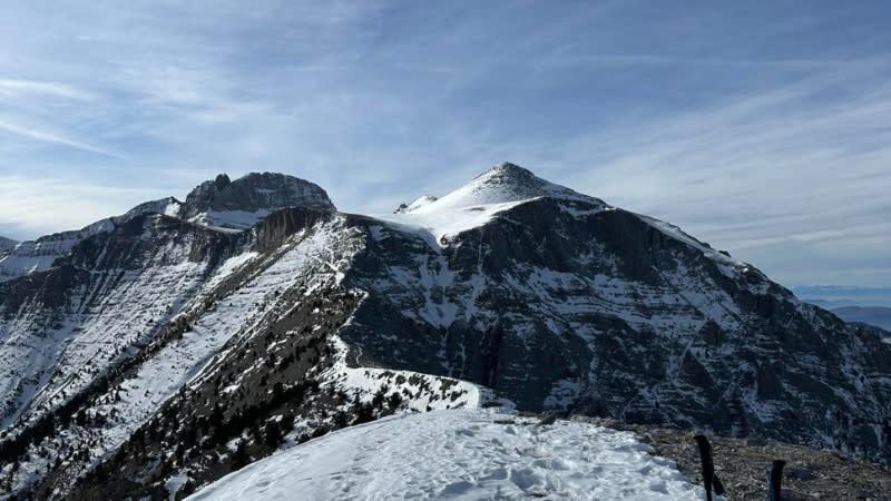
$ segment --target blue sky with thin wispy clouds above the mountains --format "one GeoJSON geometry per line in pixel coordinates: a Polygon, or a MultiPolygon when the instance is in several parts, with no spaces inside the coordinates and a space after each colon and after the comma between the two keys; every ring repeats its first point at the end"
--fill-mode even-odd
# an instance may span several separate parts
{"type": "Polygon", "coordinates": [[[0,234],[225,171],[390,212],[510,160],[787,285],[891,285],[885,2],[3,2],[0,234]]]}

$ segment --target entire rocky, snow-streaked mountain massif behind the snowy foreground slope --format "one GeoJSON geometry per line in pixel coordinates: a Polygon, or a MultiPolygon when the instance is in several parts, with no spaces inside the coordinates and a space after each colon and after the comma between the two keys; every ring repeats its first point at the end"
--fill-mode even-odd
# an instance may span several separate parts
{"type": "Polygon", "coordinates": [[[376,217],[242,179],[0,283],[0,489],[180,495],[498,399],[891,460],[888,337],[670,224],[513,164],[376,217]]]}

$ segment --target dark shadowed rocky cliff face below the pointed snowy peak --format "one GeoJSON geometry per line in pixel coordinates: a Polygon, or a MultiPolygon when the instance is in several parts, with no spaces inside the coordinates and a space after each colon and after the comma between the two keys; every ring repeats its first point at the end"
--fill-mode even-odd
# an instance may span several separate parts
{"type": "Polygon", "coordinates": [[[346,283],[373,292],[341,332],[359,363],[522,409],[891,453],[891,346],[662,222],[546,196],[442,246],[362,224],[346,283]]]}

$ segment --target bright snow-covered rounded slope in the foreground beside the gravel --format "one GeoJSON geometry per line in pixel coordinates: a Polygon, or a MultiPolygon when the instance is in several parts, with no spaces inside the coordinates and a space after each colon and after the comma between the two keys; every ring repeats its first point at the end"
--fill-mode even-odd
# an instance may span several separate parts
{"type": "Polygon", "coordinates": [[[490,410],[352,426],[232,473],[189,500],[704,499],[626,432],[490,410]]]}

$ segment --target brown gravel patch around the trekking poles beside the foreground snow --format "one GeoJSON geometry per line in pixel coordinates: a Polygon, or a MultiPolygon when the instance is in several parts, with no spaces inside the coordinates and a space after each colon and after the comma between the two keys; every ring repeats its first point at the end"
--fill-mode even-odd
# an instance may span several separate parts
{"type": "MultiPolygon", "coordinates": [[[[615,420],[572,416],[599,426],[630,431],[653,446],[656,454],[677,463],[681,472],[702,483],[699,452],[693,432],[667,430],[615,420]]],[[[856,461],[830,450],[815,450],[773,440],[708,436],[715,471],[728,500],[764,500],[767,468],[773,460],[786,462],[783,470],[784,500],[891,501],[891,469],[856,461]]]]}

